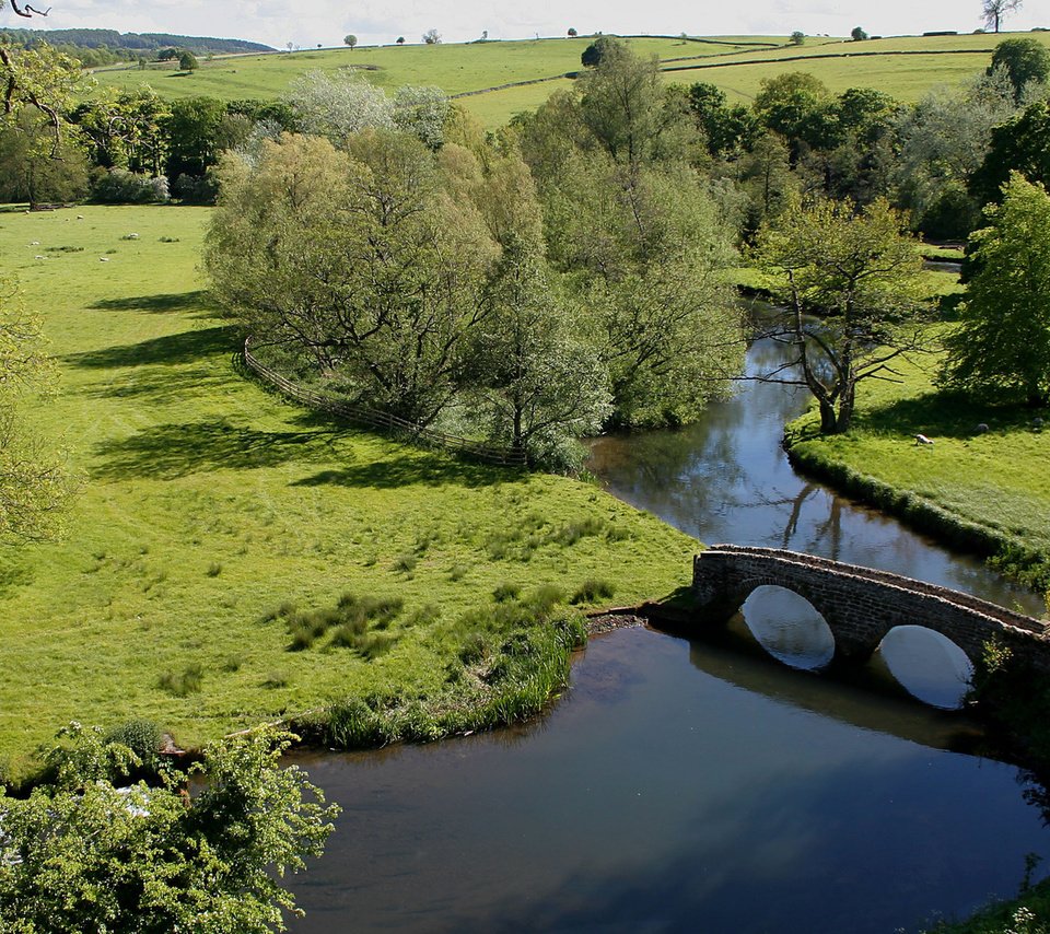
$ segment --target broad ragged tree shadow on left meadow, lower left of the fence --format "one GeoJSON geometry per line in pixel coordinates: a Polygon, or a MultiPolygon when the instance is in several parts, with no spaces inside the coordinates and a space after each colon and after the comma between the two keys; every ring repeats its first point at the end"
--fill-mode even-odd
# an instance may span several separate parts
{"type": "MultiPolygon", "coordinates": [[[[170,480],[206,470],[250,470],[308,457],[332,458],[334,432],[256,431],[225,420],[173,422],[95,447],[105,460],[93,475],[105,480],[170,480]]],[[[347,454],[341,452],[340,457],[347,454]]]]}

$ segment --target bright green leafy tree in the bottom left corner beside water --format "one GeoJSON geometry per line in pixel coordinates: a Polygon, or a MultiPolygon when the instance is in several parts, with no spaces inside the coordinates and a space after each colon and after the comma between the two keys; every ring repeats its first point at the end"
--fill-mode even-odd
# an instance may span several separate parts
{"type": "MultiPolygon", "coordinates": [[[[25,799],[0,787],[0,926],[12,932],[285,930],[280,880],[319,856],[338,813],[298,767],[293,737],[257,731],[208,747],[189,768],[117,786],[142,760],[70,724],[48,756],[54,784],[25,799]]],[[[299,912],[301,913],[301,912],[299,912]]]]}

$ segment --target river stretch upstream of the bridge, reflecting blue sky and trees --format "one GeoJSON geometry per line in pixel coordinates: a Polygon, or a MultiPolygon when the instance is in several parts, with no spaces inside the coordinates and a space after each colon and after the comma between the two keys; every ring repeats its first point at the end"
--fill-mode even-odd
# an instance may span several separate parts
{"type": "MultiPolygon", "coordinates": [[[[754,341],[746,375],[772,372],[789,352],[769,338],[754,341]]],[[[1035,594],[978,559],[796,475],[781,447],[783,425],[807,402],[801,388],[740,382],[701,424],[595,440],[590,468],[617,497],[701,541],[808,551],[1041,612],[1035,594]]]]}

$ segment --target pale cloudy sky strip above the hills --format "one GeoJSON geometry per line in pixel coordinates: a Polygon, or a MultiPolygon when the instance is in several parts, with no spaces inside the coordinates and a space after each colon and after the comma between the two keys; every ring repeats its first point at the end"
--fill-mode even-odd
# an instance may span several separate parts
{"type": "MultiPolygon", "coordinates": [[[[178,33],[252,39],[275,47],[340,45],[347,33],[361,45],[398,36],[418,43],[435,28],[444,42],[562,36],[572,26],[593,32],[678,35],[915,35],[931,30],[971,32],[981,25],[981,0],[34,0],[46,20],[15,16],[3,0],[0,26],[97,27],[132,33],[178,33]]],[[[1027,0],[1005,26],[1050,26],[1050,0],[1027,0]]]]}

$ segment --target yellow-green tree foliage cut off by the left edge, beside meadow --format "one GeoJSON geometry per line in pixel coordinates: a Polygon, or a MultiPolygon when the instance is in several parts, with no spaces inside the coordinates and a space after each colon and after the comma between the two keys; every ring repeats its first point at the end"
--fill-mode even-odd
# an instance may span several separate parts
{"type": "Polygon", "coordinates": [[[56,537],[75,489],[63,458],[32,430],[35,408],[54,384],[39,316],[0,279],[0,537],[7,540],[56,537]]]}

